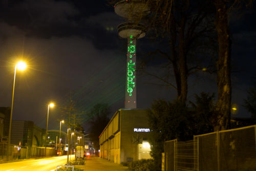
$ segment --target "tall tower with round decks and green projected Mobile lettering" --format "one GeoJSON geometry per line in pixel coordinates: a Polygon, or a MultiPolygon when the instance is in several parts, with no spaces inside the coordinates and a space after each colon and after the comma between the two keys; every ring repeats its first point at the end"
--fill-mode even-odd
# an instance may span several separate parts
{"type": "Polygon", "coordinates": [[[115,4],[115,13],[127,19],[117,27],[118,34],[127,39],[126,83],[125,83],[125,109],[137,108],[136,97],[136,40],[146,34],[146,29],[138,23],[138,17],[149,13],[148,7],[141,0],[119,1],[115,4]]]}

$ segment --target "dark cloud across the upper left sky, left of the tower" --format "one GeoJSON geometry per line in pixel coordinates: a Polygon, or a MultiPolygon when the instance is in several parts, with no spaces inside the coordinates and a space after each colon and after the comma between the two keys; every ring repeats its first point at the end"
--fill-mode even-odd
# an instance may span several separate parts
{"type": "MultiPolygon", "coordinates": [[[[51,38],[77,35],[89,38],[98,49],[115,49],[118,45],[118,36],[114,33],[114,28],[117,27],[120,18],[115,19],[118,17],[113,9],[112,12],[100,11],[103,13],[92,15],[97,11],[92,7],[100,9],[96,4],[80,4],[77,1],[45,0],[35,3],[34,0],[26,0],[3,8],[0,16],[3,24],[16,27],[29,37],[51,38]],[[91,15],[88,18],[89,14],[91,15]],[[106,27],[113,30],[108,31],[106,27]]],[[[3,34],[3,36],[8,35],[3,34]]]]}

